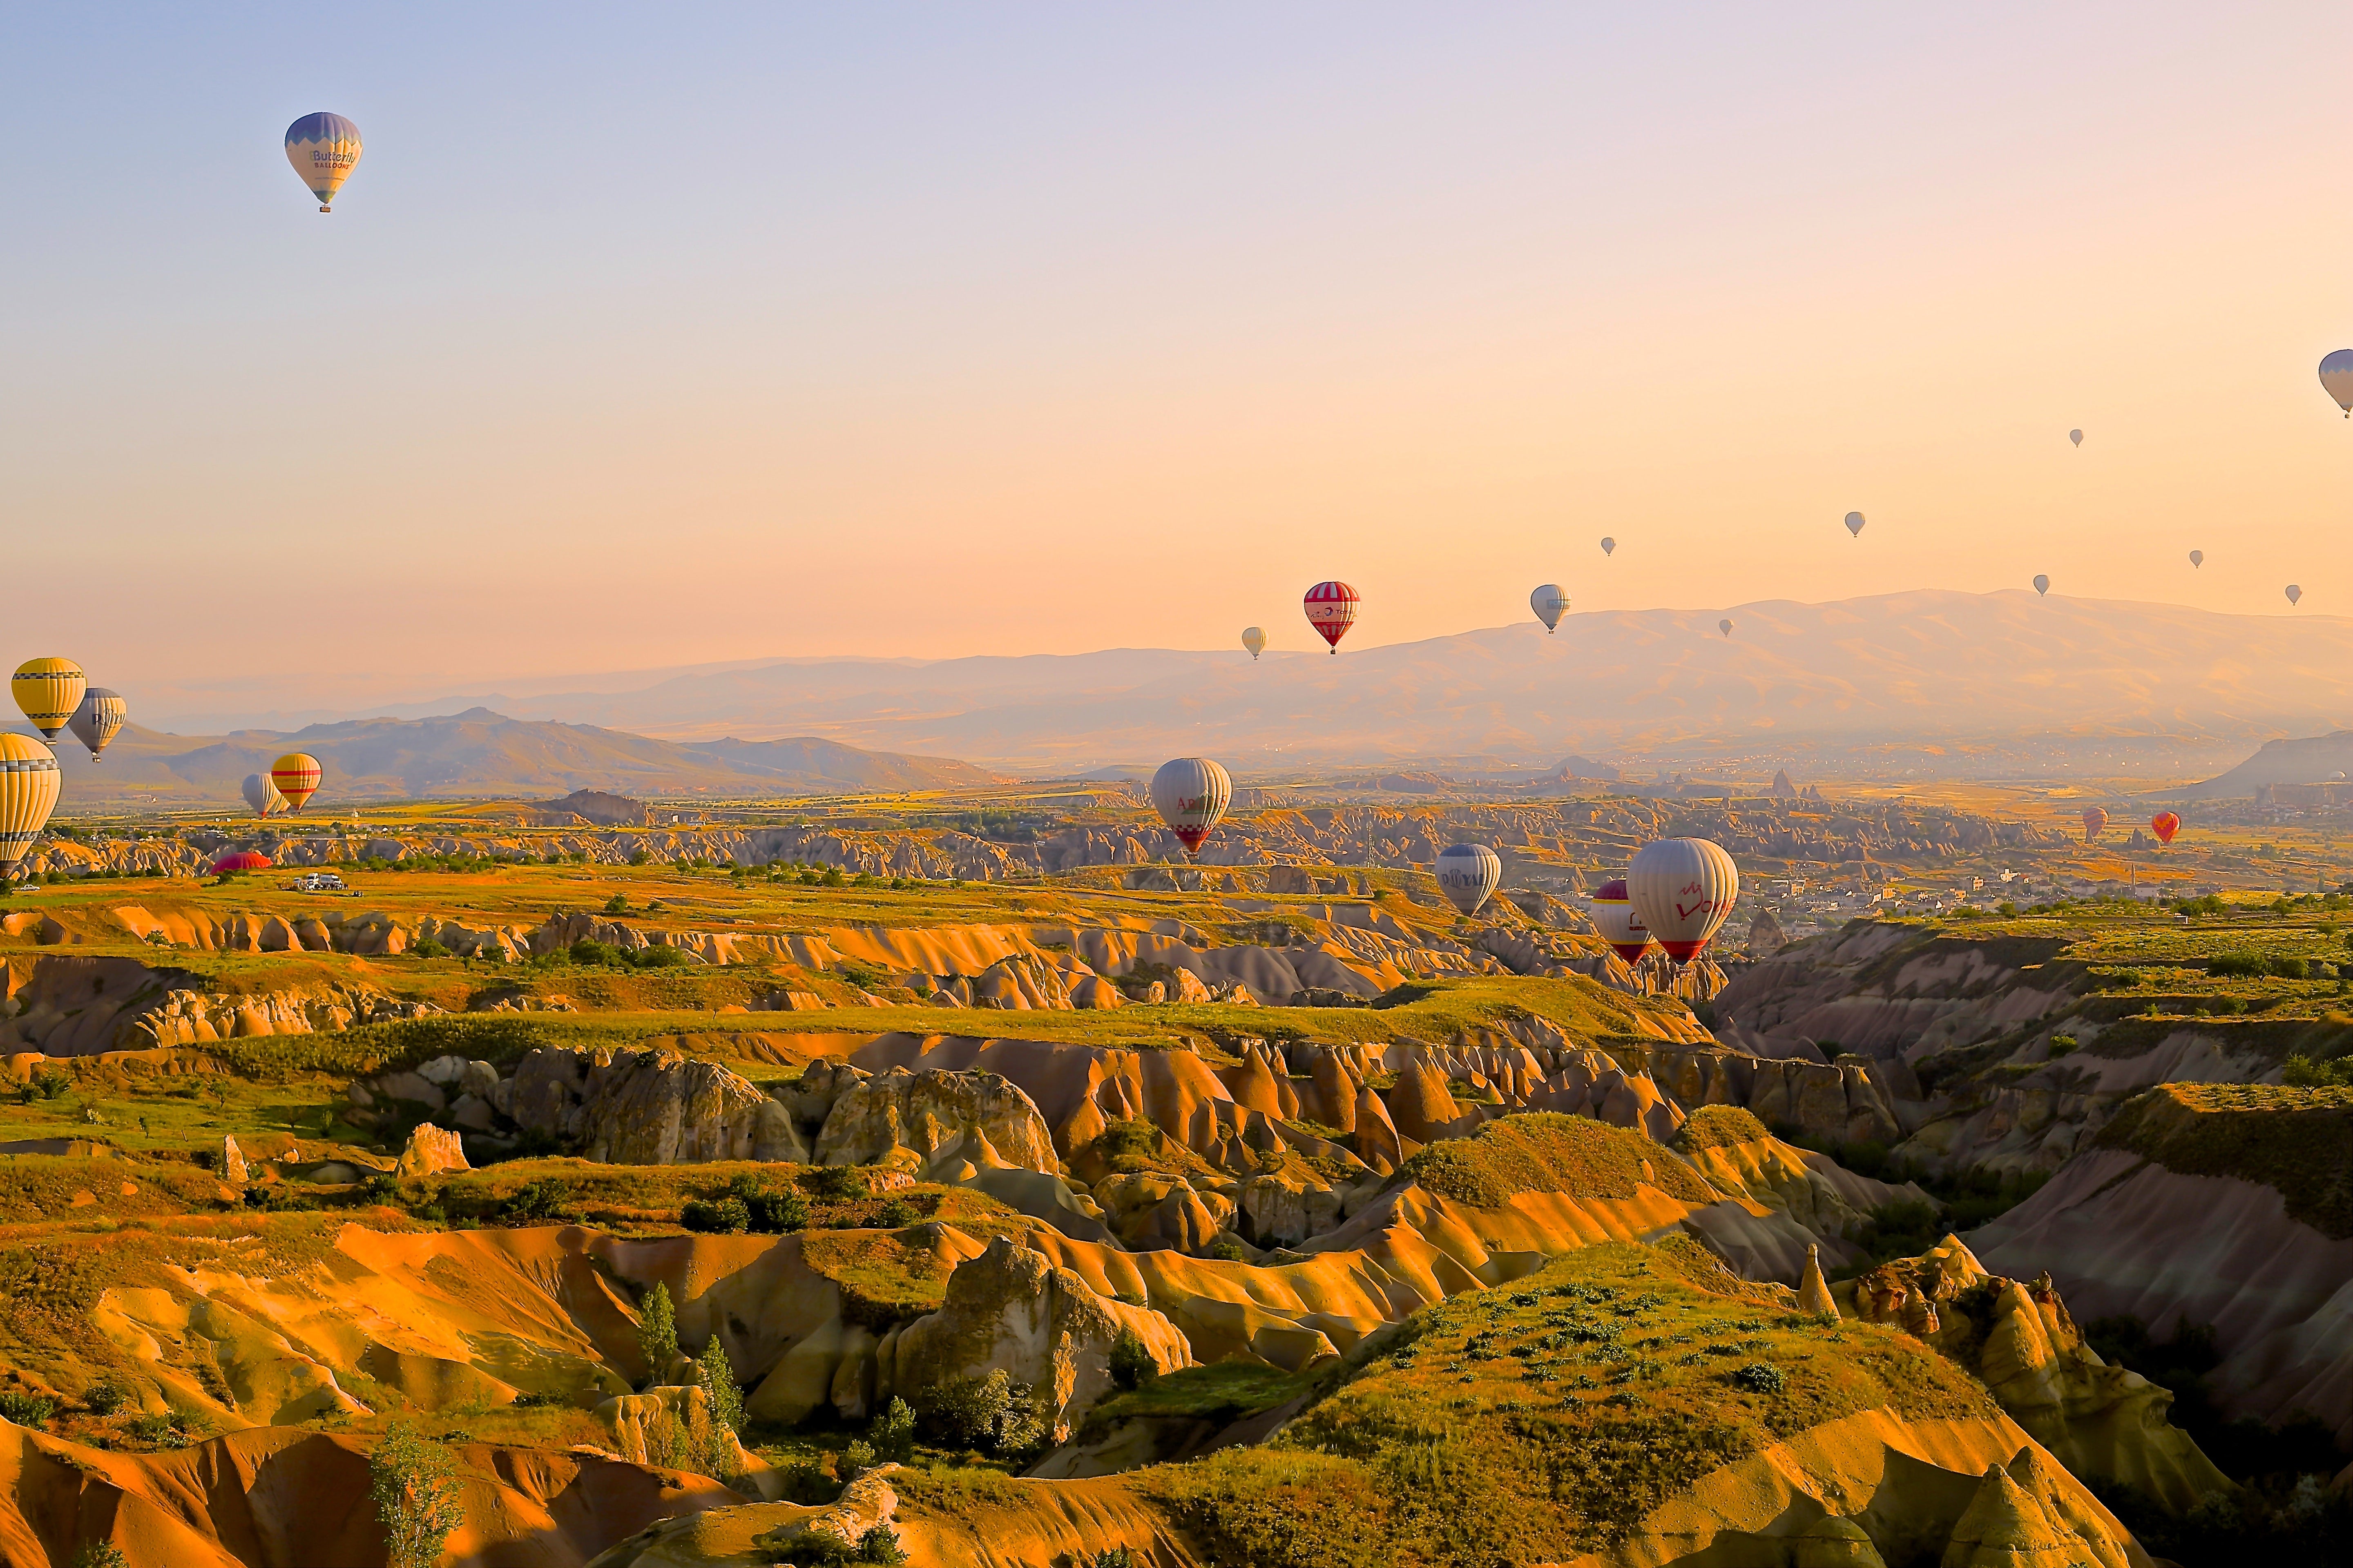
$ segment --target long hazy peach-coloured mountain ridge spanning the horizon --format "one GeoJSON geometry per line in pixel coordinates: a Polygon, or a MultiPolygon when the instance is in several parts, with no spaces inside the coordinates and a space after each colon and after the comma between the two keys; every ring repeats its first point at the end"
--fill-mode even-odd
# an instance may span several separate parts
{"type": "MultiPolygon", "coordinates": [[[[1551,637],[1527,623],[1339,658],[779,661],[511,710],[680,741],[755,726],[1071,773],[1174,752],[1245,766],[1494,752],[1558,766],[1569,750],[1889,741],[1946,748],[1939,766],[1953,771],[1972,750],[2040,757],[2104,738],[2179,741],[2209,766],[2224,745],[2353,717],[2353,621],[1922,590],[1577,614],[1551,637]],[[1732,637],[1718,635],[1725,616],[1732,637]]],[[[1579,764],[1595,773],[1607,776],[1579,764]]]]}

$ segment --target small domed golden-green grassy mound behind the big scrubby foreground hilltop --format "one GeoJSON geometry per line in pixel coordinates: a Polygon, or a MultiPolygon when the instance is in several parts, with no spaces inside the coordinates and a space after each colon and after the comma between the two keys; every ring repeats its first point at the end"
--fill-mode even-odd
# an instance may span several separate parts
{"type": "Polygon", "coordinates": [[[1718,1197],[1642,1133],[1551,1112],[1501,1117],[1475,1138],[1433,1143],[1405,1161],[1405,1175],[1475,1208],[1501,1208],[1520,1192],[1631,1199],[1638,1185],[1694,1204],[1718,1197]]]}

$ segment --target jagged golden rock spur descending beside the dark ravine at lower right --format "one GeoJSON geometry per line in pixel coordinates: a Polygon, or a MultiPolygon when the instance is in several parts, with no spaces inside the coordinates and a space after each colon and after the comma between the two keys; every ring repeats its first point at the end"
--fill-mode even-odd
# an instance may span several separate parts
{"type": "Polygon", "coordinates": [[[1993,1389],[2002,1410],[2075,1474],[2113,1476],[2184,1512],[2231,1481],[2167,1420],[2174,1396],[2108,1366],[2075,1328],[2049,1274],[2000,1279],[1946,1237],[1920,1258],[1833,1286],[1845,1316],[1927,1340],[1993,1389]]]}

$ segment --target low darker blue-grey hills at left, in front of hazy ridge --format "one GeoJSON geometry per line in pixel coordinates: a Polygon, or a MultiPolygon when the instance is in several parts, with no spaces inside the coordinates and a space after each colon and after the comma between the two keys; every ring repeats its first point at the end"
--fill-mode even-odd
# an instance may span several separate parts
{"type": "Polygon", "coordinates": [[[351,719],[292,733],[169,736],[127,724],[106,762],[59,736],[64,811],[134,804],[238,802],[247,773],[285,752],[311,752],[327,783],[318,809],[344,799],[616,795],[772,797],[861,790],[960,790],[1000,773],[946,757],[866,752],[838,741],[678,743],[586,724],[511,719],[471,708],[435,719],[351,719]]]}

